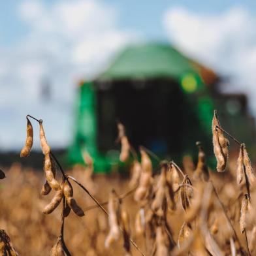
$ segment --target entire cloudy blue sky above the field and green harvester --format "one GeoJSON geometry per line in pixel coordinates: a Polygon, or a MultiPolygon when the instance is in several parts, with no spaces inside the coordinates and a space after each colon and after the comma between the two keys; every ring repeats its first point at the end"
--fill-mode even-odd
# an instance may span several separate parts
{"type": "Polygon", "coordinates": [[[223,90],[248,93],[256,114],[255,1],[8,0],[0,10],[0,150],[22,146],[28,113],[45,120],[53,146],[69,144],[76,84],[131,42],[174,44],[230,77],[223,90]]]}

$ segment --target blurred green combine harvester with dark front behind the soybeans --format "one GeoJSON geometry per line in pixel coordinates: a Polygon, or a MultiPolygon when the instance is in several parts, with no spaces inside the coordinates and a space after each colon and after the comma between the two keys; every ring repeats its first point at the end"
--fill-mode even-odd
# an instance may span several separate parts
{"type": "Polygon", "coordinates": [[[225,120],[242,118],[246,111],[245,96],[222,95],[218,82],[213,71],[168,44],[125,48],[95,80],[80,84],[69,164],[84,164],[82,152],[87,151],[95,172],[125,167],[115,144],[118,121],[135,150],[142,145],[160,157],[180,159],[197,153],[195,142],[200,140],[212,153],[214,108],[223,109],[230,101],[232,111],[225,120]],[[241,106],[235,111],[232,103],[241,106]]]}

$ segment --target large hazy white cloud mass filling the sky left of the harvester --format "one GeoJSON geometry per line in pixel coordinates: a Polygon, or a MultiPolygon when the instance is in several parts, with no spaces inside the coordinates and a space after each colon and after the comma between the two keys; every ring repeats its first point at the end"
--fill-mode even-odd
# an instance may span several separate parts
{"type": "Polygon", "coordinates": [[[26,114],[45,120],[52,146],[66,146],[77,82],[101,71],[137,35],[121,31],[117,10],[97,0],[23,1],[17,15],[28,33],[15,46],[0,48],[0,148],[24,144],[26,114]],[[53,93],[50,103],[39,97],[44,78],[53,93]]]}

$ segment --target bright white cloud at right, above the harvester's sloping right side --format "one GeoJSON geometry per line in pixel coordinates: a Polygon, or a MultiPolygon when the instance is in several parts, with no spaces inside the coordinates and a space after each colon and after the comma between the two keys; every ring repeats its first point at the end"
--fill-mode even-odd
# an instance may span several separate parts
{"type": "Polygon", "coordinates": [[[178,48],[230,76],[226,90],[248,93],[256,114],[256,19],[247,10],[234,7],[202,15],[176,7],[165,13],[163,24],[178,48]]]}

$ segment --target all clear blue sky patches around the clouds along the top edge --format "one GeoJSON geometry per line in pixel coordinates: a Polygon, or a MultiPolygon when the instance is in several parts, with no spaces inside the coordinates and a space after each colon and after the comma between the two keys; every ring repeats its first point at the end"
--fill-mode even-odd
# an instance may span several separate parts
{"type": "MultiPolygon", "coordinates": [[[[24,2],[24,1],[23,1],[24,2]]],[[[52,5],[54,1],[43,0],[46,5],[52,5]]],[[[17,15],[17,8],[22,0],[0,1],[0,42],[1,44],[15,44],[29,31],[29,28],[17,15]],[[7,25],[8,24],[8,25],[7,25]]],[[[241,6],[251,14],[256,12],[255,1],[191,1],[191,0],[104,0],[104,5],[111,5],[119,12],[119,25],[123,29],[141,31],[148,39],[167,40],[162,25],[162,16],[167,8],[184,7],[198,14],[219,14],[231,7],[241,6]]]]}

